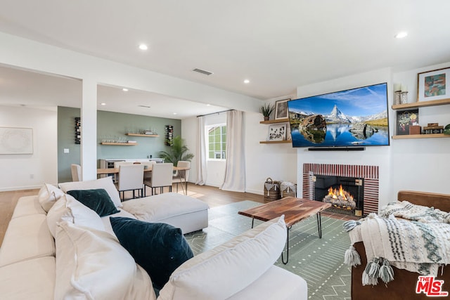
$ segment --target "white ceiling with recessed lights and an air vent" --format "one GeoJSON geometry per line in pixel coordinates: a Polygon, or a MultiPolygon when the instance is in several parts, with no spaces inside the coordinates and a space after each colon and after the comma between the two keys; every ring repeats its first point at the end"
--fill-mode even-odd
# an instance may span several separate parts
{"type": "MultiPolygon", "coordinates": [[[[450,61],[448,0],[0,0],[0,7],[0,32],[262,100],[383,67],[400,72],[450,61]],[[401,30],[409,36],[394,39],[401,30]]],[[[149,103],[150,115],[158,113],[153,101],[171,103],[160,112],[165,117],[173,107],[193,108],[186,115],[223,109],[107,87],[99,87],[99,100],[103,93],[115,99],[108,110],[127,101],[149,103]]]]}

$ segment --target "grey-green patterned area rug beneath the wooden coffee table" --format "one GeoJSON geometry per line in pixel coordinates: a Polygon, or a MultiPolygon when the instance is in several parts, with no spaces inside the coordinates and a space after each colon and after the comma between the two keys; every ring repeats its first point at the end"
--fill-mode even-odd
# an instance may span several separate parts
{"type": "MultiPolygon", "coordinates": [[[[249,230],[252,219],[238,211],[261,205],[243,201],[214,207],[209,211],[209,226],[186,235],[194,254],[200,254],[249,230]]],[[[276,266],[300,275],[308,284],[308,299],[350,299],[351,270],[344,264],[350,239],[342,229],[344,221],[322,216],[322,238],[319,239],[316,216],[295,224],[289,233],[289,261],[281,256],[276,266]]],[[[262,223],[255,220],[255,226],[262,223]]]]}

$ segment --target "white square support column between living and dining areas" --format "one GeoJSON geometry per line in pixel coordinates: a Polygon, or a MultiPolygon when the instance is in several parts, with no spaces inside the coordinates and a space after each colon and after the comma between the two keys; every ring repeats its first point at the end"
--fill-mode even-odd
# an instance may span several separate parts
{"type": "Polygon", "coordinates": [[[97,82],[83,79],[82,94],[82,180],[97,178],[97,82]]]}

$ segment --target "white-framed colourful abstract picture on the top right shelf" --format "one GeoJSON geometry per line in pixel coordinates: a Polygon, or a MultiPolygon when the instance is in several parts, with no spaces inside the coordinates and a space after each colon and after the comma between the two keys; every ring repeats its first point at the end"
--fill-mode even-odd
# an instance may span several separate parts
{"type": "Polygon", "coordinates": [[[450,67],[419,73],[417,83],[418,101],[450,98],[450,67]]]}

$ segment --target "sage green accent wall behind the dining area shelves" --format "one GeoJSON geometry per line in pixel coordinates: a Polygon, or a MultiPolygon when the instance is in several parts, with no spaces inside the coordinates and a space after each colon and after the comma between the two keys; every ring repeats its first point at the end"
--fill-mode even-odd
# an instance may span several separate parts
{"type": "MultiPolygon", "coordinates": [[[[58,182],[72,181],[70,164],[80,163],[80,145],[75,144],[75,117],[80,110],[72,107],[58,107],[58,182]],[[70,153],[64,153],[69,149],[70,153]]],[[[165,126],[174,126],[174,136],[181,135],[181,120],[142,115],[130,115],[120,112],[97,112],[97,167],[100,159],[115,158],[153,158],[158,152],[168,150],[165,145],[165,126]],[[127,136],[125,133],[154,130],[158,137],[127,136]],[[137,145],[101,145],[105,139],[136,141],[137,145]]],[[[83,126],[83,124],[82,124],[83,126]]]]}

